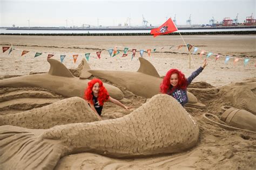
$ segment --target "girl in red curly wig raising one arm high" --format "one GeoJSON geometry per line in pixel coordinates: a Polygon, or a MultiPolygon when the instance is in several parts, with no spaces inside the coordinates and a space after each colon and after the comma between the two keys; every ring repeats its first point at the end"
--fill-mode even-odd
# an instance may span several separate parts
{"type": "Polygon", "coordinates": [[[205,59],[203,65],[193,72],[187,79],[180,70],[170,69],[166,73],[163,82],[160,84],[161,93],[171,95],[184,107],[188,102],[187,86],[203,71],[206,65],[207,60],[205,59]]]}

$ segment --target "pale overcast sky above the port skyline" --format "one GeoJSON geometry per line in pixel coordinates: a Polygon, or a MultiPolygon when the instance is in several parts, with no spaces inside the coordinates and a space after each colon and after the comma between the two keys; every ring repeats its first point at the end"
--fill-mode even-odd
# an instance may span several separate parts
{"type": "Polygon", "coordinates": [[[255,0],[176,0],[176,1],[86,1],[86,0],[0,0],[0,27],[15,26],[117,26],[131,23],[141,26],[143,16],[147,25],[158,26],[176,15],[177,25],[209,24],[214,17],[243,23],[246,17],[256,18],[255,0]],[[130,19],[129,19],[130,18],[130,19]]]}

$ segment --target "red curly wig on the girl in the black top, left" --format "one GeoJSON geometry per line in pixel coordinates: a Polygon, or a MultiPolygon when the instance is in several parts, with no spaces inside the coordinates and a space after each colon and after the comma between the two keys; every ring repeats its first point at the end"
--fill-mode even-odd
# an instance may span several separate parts
{"type": "Polygon", "coordinates": [[[92,88],[95,83],[99,83],[99,93],[98,93],[98,101],[99,105],[103,105],[105,101],[109,99],[109,93],[107,92],[106,88],[103,86],[103,83],[99,79],[92,79],[88,82],[87,88],[84,90],[84,99],[89,101],[91,104],[92,102],[92,88]]]}

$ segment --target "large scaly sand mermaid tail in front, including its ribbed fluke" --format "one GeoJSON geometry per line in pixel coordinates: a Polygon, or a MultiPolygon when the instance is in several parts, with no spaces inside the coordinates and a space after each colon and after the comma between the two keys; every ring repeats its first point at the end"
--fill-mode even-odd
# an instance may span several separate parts
{"type": "Polygon", "coordinates": [[[61,157],[78,152],[117,158],[176,153],[198,138],[196,121],[173,97],[160,94],[117,119],[47,130],[0,126],[0,169],[53,169],[61,157]]]}

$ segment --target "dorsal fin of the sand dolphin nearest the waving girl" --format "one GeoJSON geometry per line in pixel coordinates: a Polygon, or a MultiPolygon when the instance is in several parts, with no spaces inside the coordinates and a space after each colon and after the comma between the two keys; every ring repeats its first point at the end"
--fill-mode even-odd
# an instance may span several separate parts
{"type": "Polygon", "coordinates": [[[154,68],[154,66],[149,61],[140,57],[139,62],[140,67],[137,72],[160,78],[160,75],[157,73],[156,68],[154,68]]]}

